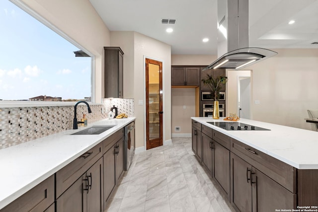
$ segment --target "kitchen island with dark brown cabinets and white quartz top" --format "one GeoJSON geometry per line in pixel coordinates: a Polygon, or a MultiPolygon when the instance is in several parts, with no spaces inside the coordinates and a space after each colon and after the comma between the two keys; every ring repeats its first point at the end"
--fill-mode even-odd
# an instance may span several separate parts
{"type": "Polygon", "coordinates": [[[225,130],[223,118],[191,119],[192,149],[237,211],[318,210],[317,132],[247,119],[237,123],[267,130],[225,130]]]}

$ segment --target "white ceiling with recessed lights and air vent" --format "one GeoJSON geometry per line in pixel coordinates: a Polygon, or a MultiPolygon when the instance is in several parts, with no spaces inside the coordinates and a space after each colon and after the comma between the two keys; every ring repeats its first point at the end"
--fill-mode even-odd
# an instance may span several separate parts
{"type": "MultiPolygon", "coordinates": [[[[147,35],[171,45],[171,54],[217,55],[217,0],[90,2],[110,31],[147,35]],[[176,22],[162,24],[162,18],[176,22]]],[[[318,42],[318,0],[249,0],[250,47],[318,49],[313,42],[318,42]]]]}

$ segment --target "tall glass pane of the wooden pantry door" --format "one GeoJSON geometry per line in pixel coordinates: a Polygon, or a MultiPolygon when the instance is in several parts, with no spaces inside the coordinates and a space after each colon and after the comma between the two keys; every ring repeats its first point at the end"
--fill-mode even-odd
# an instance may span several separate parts
{"type": "Polygon", "coordinates": [[[149,64],[149,139],[159,138],[159,66],[149,64]]]}

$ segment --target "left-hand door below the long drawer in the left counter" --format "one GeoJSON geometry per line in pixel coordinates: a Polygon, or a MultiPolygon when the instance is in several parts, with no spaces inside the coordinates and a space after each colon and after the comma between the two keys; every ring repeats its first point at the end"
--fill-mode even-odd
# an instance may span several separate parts
{"type": "Polygon", "coordinates": [[[82,175],[75,183],[67,189],[56,201],[57,212],[86,212],[86,191],[88,182],[86,174],[82,175]]]}

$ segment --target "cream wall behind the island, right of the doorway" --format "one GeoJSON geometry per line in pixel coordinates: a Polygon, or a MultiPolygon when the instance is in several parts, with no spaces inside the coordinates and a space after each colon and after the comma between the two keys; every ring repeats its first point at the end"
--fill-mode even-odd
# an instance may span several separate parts
{"type": "Polygon", "coordinates": [[[254,120],[311,129],[307,109],[318,109],[318,49],[274,49],[278,55],[249,66],[254,120]]]}

